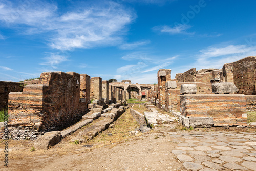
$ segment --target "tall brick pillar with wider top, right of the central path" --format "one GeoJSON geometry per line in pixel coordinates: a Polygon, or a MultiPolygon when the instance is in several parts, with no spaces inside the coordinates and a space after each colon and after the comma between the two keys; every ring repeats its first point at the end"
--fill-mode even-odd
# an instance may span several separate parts
{"type": "Polygon", "coordinates": [[[157,73],[158,91],[159,91],[159,106],[165,105],[165,83],[170,81],[170,69],[160,69],[157,73]]]}

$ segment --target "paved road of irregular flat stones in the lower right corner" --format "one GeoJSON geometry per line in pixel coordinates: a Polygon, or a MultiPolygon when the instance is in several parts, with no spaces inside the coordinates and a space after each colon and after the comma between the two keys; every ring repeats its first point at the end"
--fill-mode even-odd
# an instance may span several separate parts
{"type": "Polygon", "coordinates": [[[172,151],[187,170],[256,170],[256,133],[170,133],[172,151]]]}

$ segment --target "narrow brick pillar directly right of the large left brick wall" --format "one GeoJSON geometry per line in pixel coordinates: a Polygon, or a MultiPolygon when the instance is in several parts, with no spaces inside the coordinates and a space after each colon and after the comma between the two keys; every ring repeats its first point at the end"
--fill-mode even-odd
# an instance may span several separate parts
{"type": "Polygon", "coordinates": [[[87,104],[90,104],[90,89],[91,89],[91,80],[90,76],[87,74],[80,74],[80,98],[86,99],[87,104]]]}

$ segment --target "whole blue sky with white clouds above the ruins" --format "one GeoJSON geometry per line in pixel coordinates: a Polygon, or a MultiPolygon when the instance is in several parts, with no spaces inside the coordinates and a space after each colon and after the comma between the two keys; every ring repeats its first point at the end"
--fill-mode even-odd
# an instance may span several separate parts
{"type": "Polygon", "coordinates": [[[0,0],[0,80],[74,71],[157,83],[160,68],[221,69],[256,55],[256,1],[0,0]]]}

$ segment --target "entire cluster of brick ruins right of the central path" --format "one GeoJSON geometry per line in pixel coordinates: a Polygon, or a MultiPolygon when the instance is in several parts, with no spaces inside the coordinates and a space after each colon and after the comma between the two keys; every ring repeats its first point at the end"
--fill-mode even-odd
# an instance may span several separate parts
{"type": "Polygon", "coordinates": [[[148,101],[179,116],[187,127],[207,127],[203,122],[209,120],[211,126],[247,126],[246,111],[256,110],[256,56],[226,63],[221,70],[192,68],[175,79],[170,73],[158,71],[148,101]]]}

